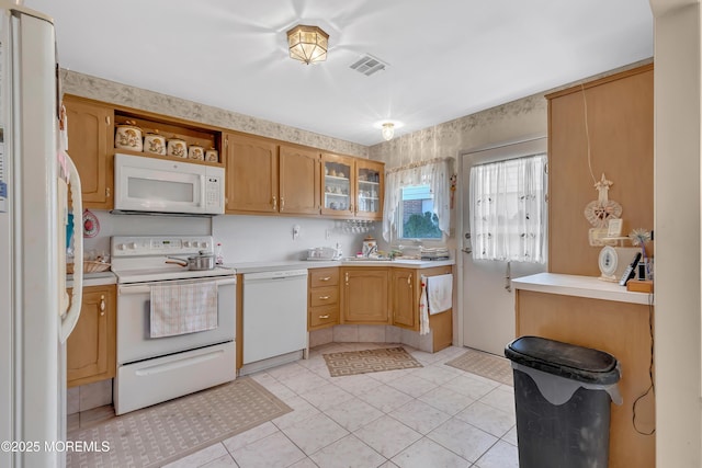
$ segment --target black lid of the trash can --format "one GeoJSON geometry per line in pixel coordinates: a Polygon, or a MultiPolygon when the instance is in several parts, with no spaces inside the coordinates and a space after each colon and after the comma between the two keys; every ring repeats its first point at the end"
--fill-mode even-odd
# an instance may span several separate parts
{"type": "Polygon", "coordinates": [[[609,385],[620,379],[611,354],[545,338],[518,338],[505,347],[505,355],[523,366],[587,384],[609,385]]]}

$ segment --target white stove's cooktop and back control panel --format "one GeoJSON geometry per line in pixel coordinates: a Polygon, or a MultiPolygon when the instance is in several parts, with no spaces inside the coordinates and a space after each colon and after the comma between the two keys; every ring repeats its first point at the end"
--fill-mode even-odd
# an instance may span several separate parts
{"type": "Polygon", "coordinates": [[[117,283],[145,283],[190,278],[233,276],[235,270],[188,270],[166,263],[169,256],[188,259],[201,252],[212,252],[210,236],[114,236],[112,238],[112,272],[117,283]]]}

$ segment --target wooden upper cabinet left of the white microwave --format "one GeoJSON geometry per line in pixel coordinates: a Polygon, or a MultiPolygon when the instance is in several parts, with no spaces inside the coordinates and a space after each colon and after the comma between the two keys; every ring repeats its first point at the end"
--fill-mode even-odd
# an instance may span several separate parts
{"type": "Polygon", "coordinates": [[[66,95],[68,155],[80,174],[83,207],[112,209],[113,167],[112,107],[66,95]]]}

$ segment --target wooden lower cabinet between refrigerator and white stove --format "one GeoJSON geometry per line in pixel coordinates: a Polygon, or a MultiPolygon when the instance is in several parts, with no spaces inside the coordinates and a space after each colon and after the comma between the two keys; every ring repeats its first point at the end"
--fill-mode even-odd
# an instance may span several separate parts
{"type": "Polygon", "coordinates": [[[80,318],[67,342],[68,387],[113,378],[116,367],[116,287],[83,288],[80,318]]]}

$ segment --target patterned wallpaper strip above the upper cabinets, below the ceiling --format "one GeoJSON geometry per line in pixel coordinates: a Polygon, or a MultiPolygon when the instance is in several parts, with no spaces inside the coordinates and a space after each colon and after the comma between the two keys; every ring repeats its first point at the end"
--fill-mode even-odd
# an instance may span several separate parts
{"type": "Polygon", "coordinates": [[[64,92],[95,101],[170,115],[191,122],[260,135],[341,155],[367,158],[369,148],[274,122],[143,90],[102,78],[61,70],[64,92]]]}

